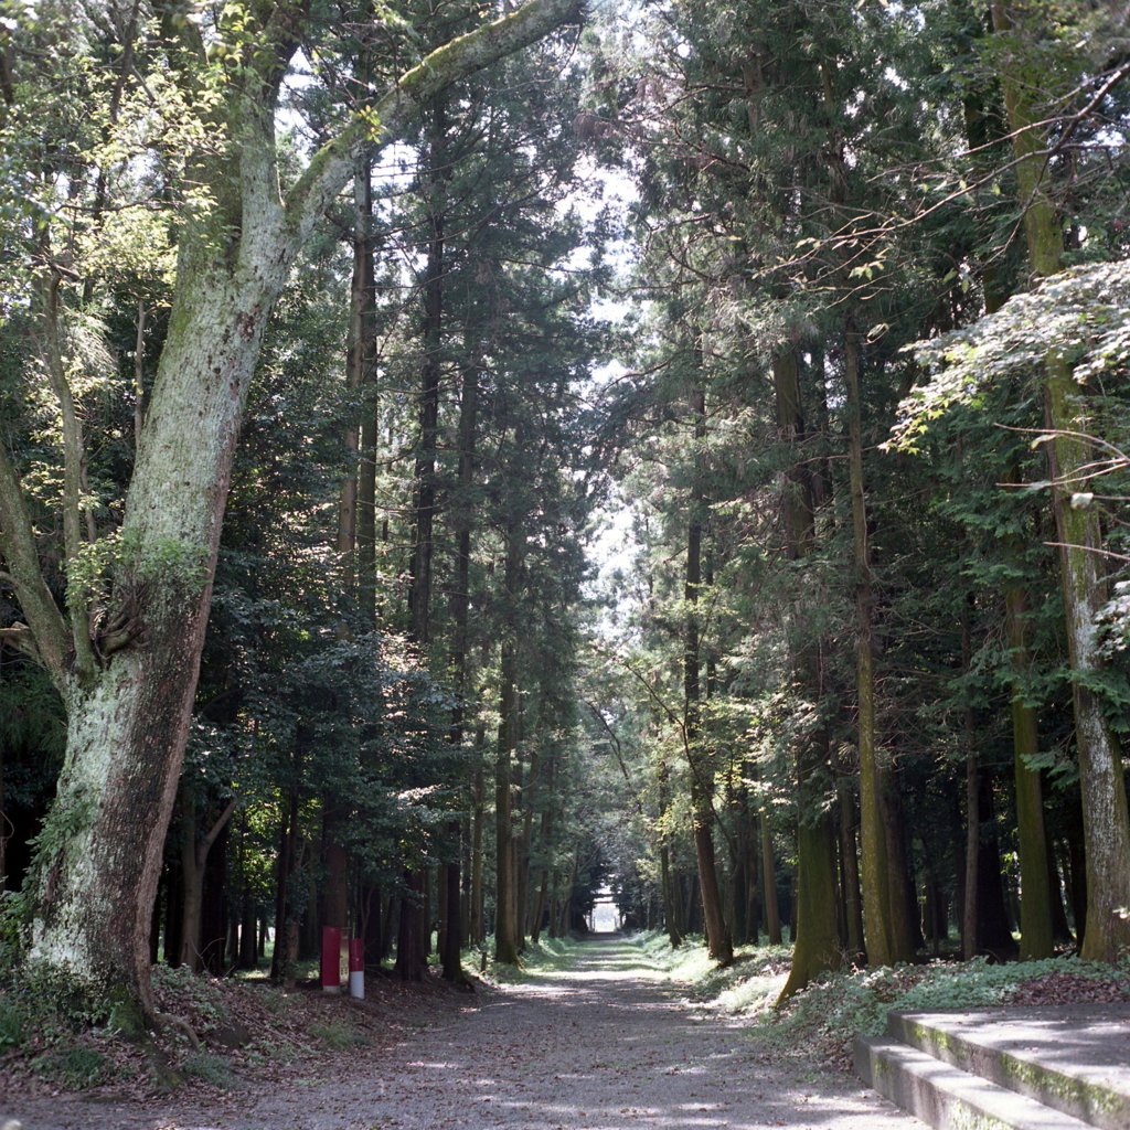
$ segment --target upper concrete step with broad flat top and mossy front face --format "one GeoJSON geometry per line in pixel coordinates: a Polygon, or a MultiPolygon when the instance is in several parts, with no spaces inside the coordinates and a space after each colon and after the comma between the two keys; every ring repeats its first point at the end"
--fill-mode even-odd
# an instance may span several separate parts
{"type": "Polygon", "coordinates": [[[1130,1128],[1130,1006],[888,1012],[887,1035],[1089,1125],[1130,1128]]]}

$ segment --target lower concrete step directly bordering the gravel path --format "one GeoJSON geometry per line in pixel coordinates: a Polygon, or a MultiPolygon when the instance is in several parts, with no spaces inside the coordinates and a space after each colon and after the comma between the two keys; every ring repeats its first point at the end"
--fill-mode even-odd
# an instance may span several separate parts
{"type": "Polygon", "coordinates": [[[1086,1130],[1087,1123],[884,1036],[857,1036],[855,1072],[935,1130],[1086,1130]]]}

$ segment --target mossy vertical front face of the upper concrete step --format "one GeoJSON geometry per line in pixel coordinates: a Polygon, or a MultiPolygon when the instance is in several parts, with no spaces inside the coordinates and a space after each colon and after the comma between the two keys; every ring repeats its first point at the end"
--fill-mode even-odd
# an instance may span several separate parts
{"type": "Polygon", "coordinates": [[[1099,1130],[1125,1130],[1130,1127],[1130,1095],[1042,1063],[1038,1059],[979,1044],[965,1033],[955,1032],[937,1019],[932,1023],[923,1019],[927,1015],[888,1012],[887,1035],[1099,1130]]]}

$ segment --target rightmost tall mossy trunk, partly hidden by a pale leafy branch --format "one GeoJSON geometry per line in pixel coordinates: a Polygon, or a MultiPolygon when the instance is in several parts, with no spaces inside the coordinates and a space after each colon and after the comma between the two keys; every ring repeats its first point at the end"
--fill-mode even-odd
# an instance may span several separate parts
{"type": "MultiPolygon", "coordinates": [[[[1036,104],[1040,89],[1035,61],[1044,11],[1024,0],[992,0],[999,41],[999,77],[1011,128],[1024,233],[1032,275],[1048,278],[1063,269],[1063,233],[1048,194],[1043,130],[1036,104]]],[[[1079,786],[1083,792],[1087,857],[1087,920],[1080,956],[1115,962],[1130,949],[1130,819],[1127,812],[1122,751],[1093,689],[1101,680],[1096,616],[1106,602],[1099,519],[1089,505],[1076,505],[1090,450],[1084,438],[1093,423],[1084,389],[1063,353],[1051,350],[1043,366],[1044,420],[1054,435],[1048,444],[1052,507],[1060,542],[1060,574],[1072,676],[1079,786]]]]}

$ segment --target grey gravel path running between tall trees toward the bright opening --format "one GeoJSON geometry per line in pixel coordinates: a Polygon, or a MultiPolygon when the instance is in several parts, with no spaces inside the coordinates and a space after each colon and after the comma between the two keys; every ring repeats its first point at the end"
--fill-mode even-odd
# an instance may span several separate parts
{"type": "Polygon", "coordinates": [[[858,1083],[782,1066],[748,1031],[697,1019],[618,939],[585,946],[567,971],[468,998],[459,1014],[360,1057],[355,1078],[348,1066],[346,1053],[340,1080],[296,1079],[201,1110],[188,1096],[146,1112],[60,1101],[50,1121],[28,1111],[24,1130],[922,1128],[858,1083]]]}

